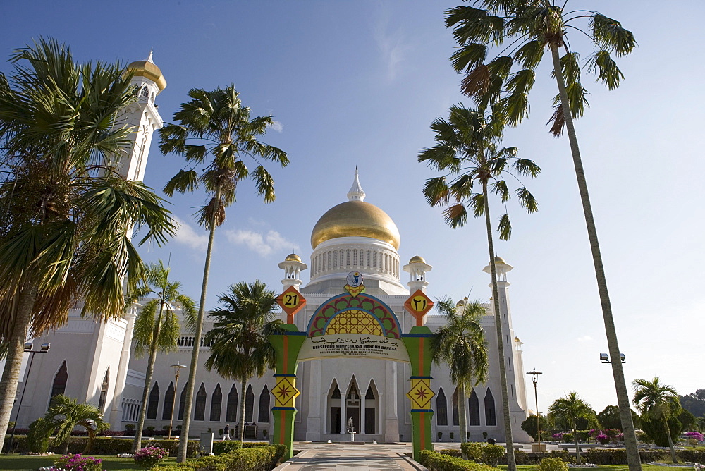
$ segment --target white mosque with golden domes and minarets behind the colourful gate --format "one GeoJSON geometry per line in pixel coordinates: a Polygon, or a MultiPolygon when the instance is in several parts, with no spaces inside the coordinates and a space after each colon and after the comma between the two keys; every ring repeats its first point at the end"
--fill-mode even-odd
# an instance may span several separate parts
{"type": "MultiPolygon", "coordinates": [[[[146,61],[136,61],[128,66],[135,73],[133,82],[138,90],[138,100],[127,111],[135,126],[134,147],[121,165],[123,175],[142,180],[147,155],[154,132],[161,128],[162,120],[154,98],[166,87],[166,80],[150,55],[146,61]]],[[[337,197],[338,195],[333,195],[337,197]]],[[[340,195],[341,197],[343,195],[340,195]]],[[[312,316],[330,298],[344,293],[346,276],[357,271],[364,277],[364,293],[374,296],[396,315],[404,332],[416,320],[403,305],[410,293],[422,290],[434,298],[429,290],[427,274],[431,265],[418,255],[402,266],[399,247],[400,234],[392,219],[379,207],[364,201],[357,172],[348,201],[337,204],[323,214],[311,235],[312,252],[307,265],[299,255],[291,254],[278,264],[283,270],[282,290],[291,286],[300,290],[307,304],[295,317],[300,331],[306,331],[312,316]],[[309,281],[302,281],[302,272],[309,269],[309,281]],[[402,271],[410,278],[405,287],[402,271]]],[[[497,257],[499,297],[504,352],[508,372],[510,417],[516,442],[529,442],[529,436],[520,428],[527,417],[527,391],[522,365],[522,343],[515,336],[509,303],[507,274],[513,267],[497,257]]],[[[489,267],[484,267],[489,273],[489,267]]],[[[489,281],[489,276],[488,276],[489,281]]],[[[464,302],[464,301],[460,301],[464,302]]],[[[459,304],[460,304],[459,302],[459,304]]],[[[104,410],[111,429],[123,430],[136,424],[140,408],[147,408],[145,427],[157,430],[168,427],[173,415],[174,427],[183,418],[185,381],[181,374],[176,381],[170,365],[190,362],[194,343],[200,342],[201,365],[197,369],[194,416],[190,434],[197,435],[211,429],[222,429],[226,423],[234,427],[240,420],[240,400],[245,400],[246,432],[253,439],[264,439],[271,434],[273,420],[271,407],[274,398],[274,372],[254,378],[247,384],[245,398],[240,397],[238,381],[219,377],[203,366],[208,347],[203,339],[184,333],[178,350],[157,358],[154,377],[149,386],[149,400],[142,404],[145,382],[146,358],[132,355],[132,331],[137,307],[133,307],[119,321],[96,323],[80,316],[80,309],[71,310],[68,323],[63,328],[35,339],[36,344],[51,343],[51,353],[34,355],[27,374],[30,355],[26,355],[18,398],[22,405],[12,411],[11,420],[18,427],[44,414],[52,396],[64,393],[88,401],[104,410]],[[174,407],[173,404],[176,404],[174,407]]],[[[286,319],[286,314],[282,314],[286,319]]],[[[443,324],[443,318],[433,312],[425,317],[431,330],[443,324]]],[[[486,305],[482,318],[489,346],[489,379],[473,389],[467,398],[467,424],[470,439],[480,441],[484,434],[498,441],[504,440],[501,383],[499,379],[497,336],[492,305],[486,305]]],[[[210,327],[207,321],[204,332],[210,327]]],[[[295,400],[294,439],[300,441],[341,440],[346,423],[352,417],[358,431],[357,439],[378,442],[410,441],[412,437],[410,401],[406,397],[411,368],[408,363],[376,359],[315,359],[301,362],[297,372],[297,388],[301,391],[295,400]]],[[[432,436],[443,433],[443,440],[450,432],[458,436],[458,399],[455,386],[448,378],[446,368],[434,365],[431,369],[431,400],[434,409],[432,436]]]]}

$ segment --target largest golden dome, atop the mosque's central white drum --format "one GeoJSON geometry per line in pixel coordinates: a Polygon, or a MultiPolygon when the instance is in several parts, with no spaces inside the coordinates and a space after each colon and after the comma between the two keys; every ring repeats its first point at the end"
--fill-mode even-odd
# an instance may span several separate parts
{"type": "Polygon", "coordinates": [[[360,200],[346,201],[329,209],[321,216],[311,233],[311,247],[338,237],[369,237],[399,248],[399,230],[374,204],[360,200]]]}

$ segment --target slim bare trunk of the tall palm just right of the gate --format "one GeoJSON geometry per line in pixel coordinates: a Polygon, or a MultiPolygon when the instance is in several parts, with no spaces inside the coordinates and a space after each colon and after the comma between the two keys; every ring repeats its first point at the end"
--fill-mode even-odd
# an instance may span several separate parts
{"type": "Polygon", "coordinates": [[[516,471],[517,463],[514,458],[514,439],[512,434],[512,417],[509,413],[509,392],[507,387],[507,365],[504,358],[504,342],[502,334],[502,314],[499,311],[499,291],[497,289],[497,266],[494,262],[494,241],[492,240],[492,223],[489,217],[489,199],[487,195],[487,182],[482,182],[482,197],[484,198],[485,225],[487,229],[487,247],[489,247],[489,266],[492,274],[492,300],[494,301],[494,323],[497,329],[497,351],[499,362],[499,376],[502,384],[502,412],[504,417],[504,436],[507,442],[507,469],[516,471]]]}

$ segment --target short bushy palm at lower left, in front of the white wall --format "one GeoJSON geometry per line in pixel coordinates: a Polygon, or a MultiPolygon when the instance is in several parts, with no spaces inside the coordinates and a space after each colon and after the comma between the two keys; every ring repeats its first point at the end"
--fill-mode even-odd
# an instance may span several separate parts
{"type": "Polygon", "coordinates": [[[110,424],[103,422],[103,412],[89,403],[79,404],[74,398],[59,394],[51,398],[49,410],[44,414],[44,426],[54,431],[54,443],[63,443],[63,454],[68,454],[71,432],[83,427],[88,433],[88,443],[84,453],[90,451],[95,436],[108,429],[110,424]]]}

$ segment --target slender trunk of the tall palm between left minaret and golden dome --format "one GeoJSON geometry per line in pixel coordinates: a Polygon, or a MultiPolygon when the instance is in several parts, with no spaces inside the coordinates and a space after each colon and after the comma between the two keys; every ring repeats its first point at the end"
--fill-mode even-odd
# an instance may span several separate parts
{"type": "MultiPolygon", "coordinates": [[[[216,190],[216,202],[220,202],[221,190],[216,190]]],[[[206,290],[208,288],[208,275],[211,271],[211,255],[213,253],[213,240],[216,234],[215,213],[211,218],[210,233],[208,235],[208,248],[206,249],[206,262],[203,267],[203,283],[201,284],[201,299],[198,305],[198,318],[196,319],[196,331],[194,332],[193,350],[191,350],[191,365],[188,372],[188,383],[186,383],[186,400],[184,404],[183,421],[181,422],[181,436],[178,442],[178,453],[176,462],[183,463],[186,460],[188,449],[188,427],[191,424],[191,405],[193,403],[193,393],[196,384],[196,367],[198,366],[198,353],[201,348],[201,334],[203,332],[203,318],[205,316],[206,290]]]]}

